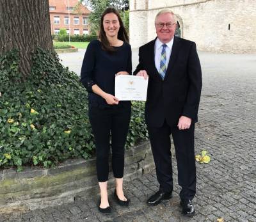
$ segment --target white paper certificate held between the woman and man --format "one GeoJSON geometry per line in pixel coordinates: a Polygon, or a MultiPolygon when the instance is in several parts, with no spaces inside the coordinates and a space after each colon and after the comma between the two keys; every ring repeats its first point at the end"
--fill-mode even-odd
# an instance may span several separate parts
{"type": "Polygon", "coordinates": [[[147,100],[148,77],[117,75],[115,78],[115,97],[118,100],[147,100]]]}

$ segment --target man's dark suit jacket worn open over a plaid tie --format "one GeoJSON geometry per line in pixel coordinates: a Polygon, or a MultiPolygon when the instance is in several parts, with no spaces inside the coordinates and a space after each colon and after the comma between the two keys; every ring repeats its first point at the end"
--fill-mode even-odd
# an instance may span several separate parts
{"type": "Polygon", "coordinates": [[[170,127],[180,116],[197,122],[202,89],[202,72],[195,42],[174,36],[172,53],[164,80],[154,61],[156,39],[139,49],[139,65],[134,71],[146,70],[149,76],[145,120],[147,125],[161,127],[164,119],[170,127]]]}

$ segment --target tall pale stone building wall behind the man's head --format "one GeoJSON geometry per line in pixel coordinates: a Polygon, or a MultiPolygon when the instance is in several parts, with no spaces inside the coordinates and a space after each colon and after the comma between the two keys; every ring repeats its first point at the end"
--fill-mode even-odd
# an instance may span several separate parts
{"type": "Polygon", "coordinates": [[[156,37],[154,19],[164,8],[178,15],[182,37],[195,41],[201,51],[256,52],[256,1],[253,0],[131,0],[132,47],[156,37]]]}

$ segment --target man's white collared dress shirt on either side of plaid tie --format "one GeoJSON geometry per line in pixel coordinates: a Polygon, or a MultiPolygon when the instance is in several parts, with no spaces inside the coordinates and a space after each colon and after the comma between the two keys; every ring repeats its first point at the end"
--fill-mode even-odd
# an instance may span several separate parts
{"type": "MultiPolygon", "coordinates": [[[[166,67],[168,67],[168,63],[170,60],[170,55],[172,52],[172,45],[173,45],[173,38],[170,40],[170,42],[166,43],[165,51],[166,51],[166,67]]],[[[163,42],[159,40],[159,38],[156,39],[155,42],[155,65],[156,69],[159,72],[160,70],[160,61],[161,61],[161,52],[163,49],[163,42]]]]}

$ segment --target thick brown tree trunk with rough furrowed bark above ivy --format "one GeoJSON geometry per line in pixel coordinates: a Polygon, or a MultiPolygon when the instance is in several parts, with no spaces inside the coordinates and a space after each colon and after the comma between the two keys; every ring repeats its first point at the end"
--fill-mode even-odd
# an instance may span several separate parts
{"type": "Polygon", "coordinates": [[[48,0],[0,0],[0,56],[19,49],[19,68],[26,77],[36,47],[53,49],[48,0]]]}

